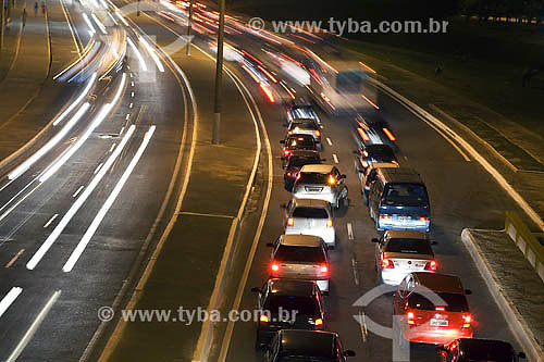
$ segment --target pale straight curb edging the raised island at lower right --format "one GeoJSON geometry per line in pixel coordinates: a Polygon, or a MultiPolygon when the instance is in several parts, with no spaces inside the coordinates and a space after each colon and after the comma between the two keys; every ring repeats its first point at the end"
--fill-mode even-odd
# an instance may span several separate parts
{"type": "Polygon", "coordinates": [[[497,283],[497,277],[493,273],[493,269],[487,262],[487,259],[485,259],[485,255],[478,246],[478,242],[470,229],[465,228],[462,230],[461,240],[469,251],[470,255],[472,257],[472,260],[474,261],[480,275],[485,280],[485,285],[487,285],[487,289],[495,299],[495,302],[505,316],[506,322],[508,322],[509,328],[528,355],[528,360],[543,362],[544,351],[536,342],[531,329],[526,324],[523,317],[518,313],[518,310],[514,305],[512,301],[506,294],[503,292],[503,288],[497,283]]]}

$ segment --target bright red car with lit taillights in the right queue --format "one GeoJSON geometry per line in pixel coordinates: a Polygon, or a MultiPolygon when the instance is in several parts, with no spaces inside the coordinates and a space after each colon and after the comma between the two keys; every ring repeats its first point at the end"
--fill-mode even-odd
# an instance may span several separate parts
{"type": "Polygon", "coordinates": [[[395,292],[393,308],[403,339],[447,345],[472,338],[472,315],[457,276],[416,272],[408,274],[395,292]]]}

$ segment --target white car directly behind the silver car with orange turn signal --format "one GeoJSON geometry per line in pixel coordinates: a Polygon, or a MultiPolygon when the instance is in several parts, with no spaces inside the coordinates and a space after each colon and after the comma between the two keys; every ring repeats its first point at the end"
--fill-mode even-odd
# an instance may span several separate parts
{"type": "Polygon", "coordinates": [[[293,199],[285,205],[286,235],[313,235],[325,241],[327,248],[336,246],[334,214],[331,204],[323,200],[293,199]]]}

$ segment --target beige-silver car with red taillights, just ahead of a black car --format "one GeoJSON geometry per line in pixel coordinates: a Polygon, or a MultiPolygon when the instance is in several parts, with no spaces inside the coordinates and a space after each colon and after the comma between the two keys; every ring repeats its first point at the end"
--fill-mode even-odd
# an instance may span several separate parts
{"type": "Polygon", "coordinates": [[[275,244],[270,262],[270,276],[314,280],[319,289],[329,292],[329,253],[326,246],[318,236],[282,235],[275,244]]]}

